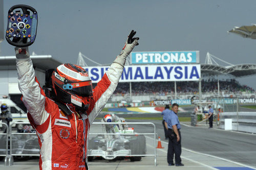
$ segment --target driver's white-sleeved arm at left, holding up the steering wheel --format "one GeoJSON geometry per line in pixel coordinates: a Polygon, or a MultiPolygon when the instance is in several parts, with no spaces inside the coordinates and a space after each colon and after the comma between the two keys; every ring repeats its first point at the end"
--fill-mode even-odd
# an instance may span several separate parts
{"type": "Polygon", "coordinates": [[[15,47],[18,87],[23,95],[23,103],[36,125],[43,124],[49,114],[45,111],[45,93],[35,77],[28,47],[15,47]]]}

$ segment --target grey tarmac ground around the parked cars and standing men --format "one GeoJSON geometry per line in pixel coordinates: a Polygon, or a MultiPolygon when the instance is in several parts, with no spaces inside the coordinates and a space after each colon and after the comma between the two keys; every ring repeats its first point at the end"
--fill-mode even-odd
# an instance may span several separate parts
{"type": "MultiPolygon", "coordinates": [[[[184,108],[186,111],[191,112],[193,107],[184,108]]],[[[241,107],[241,111],[247,109],[241,107]]],[[[255,111],[248,109],[250,111],[255,111]]],[[[182,114],[182,113],[181,113],[182,114]]],[[[144,116],[154,114],[136,114],[136,115],[120,115],[126,116],[144,116]]],[[[155,116],[160,116],[156,114],[155,116]]],[[[99,120],[97,120],[99,122],[99,120]]],[[[190,123],[181,125],[182,135],[182,162],[185,164],[184,167],[168,167],[166,162],[167,154],[167,143],[168,140],[164,139],[164,132],[161,120],[129,120],[127,122],[152,122],[156,126],[157,136],[161,137],[162,145],[164,149],[157,149],[157,164],[154,166],[154,157],[143,157],[142,161],[130,162],[130,160],[120,161],[94,161],[89,162],[90,169],[256,169],[256,135],[247,133],[230,132],[224,130],[208,129],[206,126],[203,127],[190,127],[190,123]],[[189,150],[192,150],[189,151],[189,150]],[[194,152],[195,151],[195,152],[194,152]],[[199,152],[199,153],[197,153],[199,152]],[[207,154],[214,157],[210,157],[207,154]],[[221,160],[219,158],[228,159],[231,161],[221,160]],[[107,163],[108,162],[108,163],[107,163]],[[237,163],[236,163],[237,162],[237,163]],[[239,163],[242,163],[249,167],[243,167],[239,163]],[[218,166],[218,167],[217,167],[218,166]],[[219,167],[225,166],[225,168],[219,167]],[[236,167],[236,168],[233,168],[236,167]]],[[[143,125],[131,125],[138,133],[152,133],[153,129],[143,125]]],[[[100,128],[97,128],[100,129],[100,128]]],[[[95,130],[92,127],[91,133],[95,130]]],[[[97,130],[98,131],[98,130],[97,130]]],[[[147,154],[154,152],[154,139],[153,136],[146,136],[147,139],[147,154]]],[[[4,162],[0,162],[0,169],[4,167],[4,162]]],[[[29,161],[15,161],[11,167],[5,167],[5,169],[38,169],[38,159],[29,161]]]]}

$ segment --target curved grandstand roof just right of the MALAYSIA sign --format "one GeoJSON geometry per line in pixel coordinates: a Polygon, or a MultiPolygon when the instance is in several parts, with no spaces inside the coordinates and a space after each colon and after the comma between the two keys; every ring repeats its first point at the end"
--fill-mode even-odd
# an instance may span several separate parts
{"type": "Polygon", "coordinates": [[[207,75],[227,75],[244,77],[256,74],[256,64],[238,64],[221,66],[215,64],[201,64],[201,73],[207,75]]]}

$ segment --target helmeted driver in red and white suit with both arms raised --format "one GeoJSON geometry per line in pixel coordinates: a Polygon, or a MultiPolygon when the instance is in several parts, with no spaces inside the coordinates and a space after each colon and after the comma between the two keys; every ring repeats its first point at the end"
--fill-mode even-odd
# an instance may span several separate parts
{"type": "Polygon", "coordinates": [[[28,47],[15,47],[18,86],[38,136],[40,169],[88,169],[90,125],[115,91],[126,57],[138,45],[135,34],[130,33],[94,89],[85,69],[62,64],[52,72],[51,86],[44,92],[35,77],[28,47]]]}

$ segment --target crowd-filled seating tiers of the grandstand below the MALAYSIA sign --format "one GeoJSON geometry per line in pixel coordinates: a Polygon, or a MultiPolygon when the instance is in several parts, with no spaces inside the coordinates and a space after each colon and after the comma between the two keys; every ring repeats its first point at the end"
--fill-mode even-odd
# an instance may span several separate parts
{"type": "MultiPolygon", "coordinates": [[[[217,93],[218,80],[214,79],[206,79],[202,80],[202,92],[203,93],[217,93]]],[[[220,91],[224,93],[254,93],[254,89],[241,85],[235,79],[226,79],[219,81],[220,83],[220,91]]],[[[95,84],[96,85],[96,84],[95,84]]],[[[155,94],[155,95],[168,95],[173,94],[174,82],[134,82],[133,86],[133,95],[147,95],[147,94],[155,94]]],[[[114,94],[126,94],[130,93],[129,91],[129,83],[119,83],[114,94]]],[[[198,82],[177,82],[177,92],[179,94],[198,94],[198,82]]]]}

